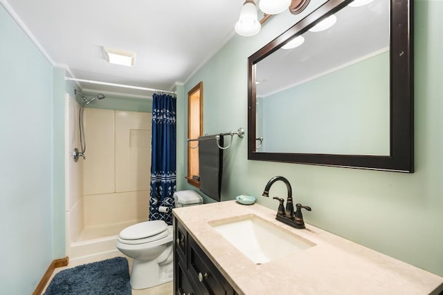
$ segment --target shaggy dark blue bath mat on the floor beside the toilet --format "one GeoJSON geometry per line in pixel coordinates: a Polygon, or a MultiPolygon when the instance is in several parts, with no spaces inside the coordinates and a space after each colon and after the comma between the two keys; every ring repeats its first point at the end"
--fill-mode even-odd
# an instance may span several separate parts
{"type": "Polygon", "coordinates": [[[56,274],[45,295],[131,295],[127,259],[116,257],[79,265],[56,274]]]}

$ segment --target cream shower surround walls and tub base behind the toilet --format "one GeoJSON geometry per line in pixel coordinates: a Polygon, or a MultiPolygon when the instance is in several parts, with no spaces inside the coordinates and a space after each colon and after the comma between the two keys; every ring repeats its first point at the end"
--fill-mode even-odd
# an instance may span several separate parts
{"type": "Polygon", "coordinates": [[[152,115],[85,109],[86,160],[75,163],[80,106],[66,100],[66,251],[71,260],[118,253],[118,233],[148,216],[152,115]]]}

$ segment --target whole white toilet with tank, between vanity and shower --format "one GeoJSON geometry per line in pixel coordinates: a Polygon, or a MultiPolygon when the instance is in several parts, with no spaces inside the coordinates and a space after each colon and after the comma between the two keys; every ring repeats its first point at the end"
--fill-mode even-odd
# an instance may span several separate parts
{"type": "MultiPolygon", "coordinates": [[[[203,198],[195,191],[174,193],[176,208],[197,204],[203,204],[203,198]]],[[[172,281],[173,235],[172,225],[163,220],[140,222],[120,231],[117,249],[134,259],[130,279],[132,289],[145,289],[172,281]]]]}

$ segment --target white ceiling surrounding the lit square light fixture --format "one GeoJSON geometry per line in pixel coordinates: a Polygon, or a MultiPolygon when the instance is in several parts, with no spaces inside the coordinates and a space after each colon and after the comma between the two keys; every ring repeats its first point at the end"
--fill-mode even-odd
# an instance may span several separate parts
{"type": "MultiPolygon", "coordinates": [[[[243,0],[1,0],[53,64],[78,79],[171,90],[233,36],[243,0]],[[136,53],[108,64],[102,47],[136,53]]],[[[83,89],[150,95],[81,83],[83,89]]]]}

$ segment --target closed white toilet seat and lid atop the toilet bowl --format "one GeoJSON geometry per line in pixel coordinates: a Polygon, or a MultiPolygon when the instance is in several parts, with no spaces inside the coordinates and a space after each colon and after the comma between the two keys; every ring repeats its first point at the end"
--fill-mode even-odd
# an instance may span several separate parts
{"type": "Polygon", "coordinates": [[[160,240],[170,234],[168,225],[163,220],[150,220],[132,225],[120,231],[118,241],[136,245],[160,240]]]}

